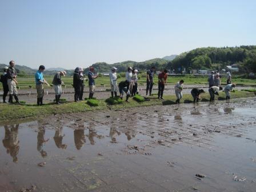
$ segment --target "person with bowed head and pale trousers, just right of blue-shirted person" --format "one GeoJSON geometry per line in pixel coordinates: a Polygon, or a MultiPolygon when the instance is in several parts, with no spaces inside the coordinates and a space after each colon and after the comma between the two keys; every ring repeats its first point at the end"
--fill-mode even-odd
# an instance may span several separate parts
{"type": "Polygon", "coordinates": [[[59,99],[61,98],[62,94],[62,85],[64,85],[63,81],[61,81],[61,76],[66,76],[66,71],[58,72],[54,75],[53,78],[53,86],[55,91],[55,102],[59,105],[59,99]]]}

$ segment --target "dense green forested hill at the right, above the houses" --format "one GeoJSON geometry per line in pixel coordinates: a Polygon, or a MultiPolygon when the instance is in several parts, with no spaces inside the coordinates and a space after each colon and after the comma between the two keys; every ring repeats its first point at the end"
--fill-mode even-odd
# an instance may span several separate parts
{"type": "Polygon", "coordinates": [[[244,73],[256,72],[256,46],[203,47],[178,55],[171,69],[223,69],[237,64],[244,73]]]}

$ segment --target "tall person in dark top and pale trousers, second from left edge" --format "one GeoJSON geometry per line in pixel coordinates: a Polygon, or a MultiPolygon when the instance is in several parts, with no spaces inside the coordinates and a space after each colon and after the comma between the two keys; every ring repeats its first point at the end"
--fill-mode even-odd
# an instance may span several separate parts
{"type": "Polygon", "coordinates": [[[16,103],[21,104],[18,99],[18,91],[16,85],[17,82],[17,72],[14,68],[15,62],[10,61],[9,62],[9,68],[7,69],[7,85],[9,89],[9,101],[10,103],[13,103],[13,97],[16,101],[16,103]]]}

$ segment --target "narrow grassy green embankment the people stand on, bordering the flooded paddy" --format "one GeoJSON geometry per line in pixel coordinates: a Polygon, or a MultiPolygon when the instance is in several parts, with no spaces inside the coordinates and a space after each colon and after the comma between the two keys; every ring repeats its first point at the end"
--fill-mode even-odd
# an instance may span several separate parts
{"type": "MultiPolygon", "coordinates": [[[[245,97],[254,97],[255,93],[247,91],[235,91],[231,93],[231,99],[233,98],[245,98],[245,97]]],[[[165,100],[159,100],[155,97],[150,97],[150,101],[137,102],[134,99],[130,98],[129,103],[122,102],[117,105],[108,105],[105,102],[105,99],[100,99],[98,106],[89,106],[87,101],[81,102],[66,102],[62,105],[48,104],[43,106],[36,105],[9,105],[9,104],[0,104],[0,121],[7,121],[10,119],[22,119],[29,117],[45,117],[45,115],[51,114],[65,114],[65,113],[75,113],[75,112],[84,112],[84,111],[93,111],[93,110],[106,110],[106,109],[125,109],[130,107],[139,107],[139,106],[152,106],[152,105],[171,105],[176,100],[175,95],[165,95],[165,100]]],[[[223,100],[225,99],[225,93],[221,91],[219,96],[216,95],[215,99],[223,100]]],[[[202,94],[202,101],[209,101],[209,93],[202,94]]],[[[190,94],[184,94],[181,102],[190,103],[192,102],[192,97],[190,94]]]]}

